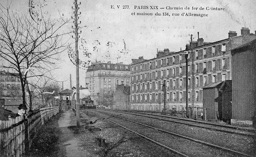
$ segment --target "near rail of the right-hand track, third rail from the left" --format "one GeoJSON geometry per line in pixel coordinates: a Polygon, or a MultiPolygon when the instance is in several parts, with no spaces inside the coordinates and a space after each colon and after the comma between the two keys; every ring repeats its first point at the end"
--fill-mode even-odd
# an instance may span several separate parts
{"type": "MultiPolygon", "coordinates": [[[[132,114],[132,113],[140,113],[140,112],[132,112],[132,113],[127,113],[125,111],[124,112],[113,111],[113,112],[131,114],[131,115],[136,115],[136,116],[143,116],[143,115],[132,114]]],[[[141,113],[141,114],[143,114],[143,113],[141,113]]],[[[147,114],[147,115],[159,116],[159,115],[154,115],[154,114],[147,114]]],[[[162,118],[156,118],[156,117],[150,117],[150,116],[144,116],[144,117],[154,118],[154,119],[159,119],[159,120],[164,120],[164,121],[169,121],[169,122],[174,122],[174,123],[180,123],[180,124],[185,124],[185,125],[190,125],[190,126],[195,126],[195,127],[215,130],[215,131],[227,132],[227,133],[232,133],[232,134],[237,134],[237,135],[255,136],[254,134],[246,134],[246,133],[241,133],[241,132],[235,132],[235,131],[228,131],[228,130],[222,130],[222,129],[217,129],[217,128],[211,128],[211,127],[207,127],[207,126],[199,126],[199,125],[195,125],[195,124],[188,124],[188,123],[184,123],[184,122],[176,122],[176,121],[172,121],[172,120],[169,120],[169,119],[162,119],[162,118]]],[[[172,117],[168,117],[168,116],[163,116],[163,117],[165,117],[165,118],[172,118],[172,117]]],[[[196,121],[191,121],[191,122],[196,122],[196,121]]]]}

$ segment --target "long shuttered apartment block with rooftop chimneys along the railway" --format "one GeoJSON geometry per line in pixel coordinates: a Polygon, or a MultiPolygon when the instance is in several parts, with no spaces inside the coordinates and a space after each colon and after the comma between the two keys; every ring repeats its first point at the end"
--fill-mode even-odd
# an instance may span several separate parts
{"type": "MultiPolygon", "coordinates": [[[[203,86],[211,82],[232,80],[230,50],[255,38],[255,34],[250,34],[250,30],[243,27],[241,36],[237,36],[235,31],[229,31],[227,39],[204,42],[204,39],[199,38],[198,35],[197,41],[187,45],[189,106],[203,107],[203,86]],[[191,45],[194,53],[193,58],[191,45]],[[192,59],[194,68],[192,68],[192,59]],[[192,86],[194,90],[192,90],[192,86]],[[193,104],[192,95],[194,95],[193,104]]],[[[186,59],[184,51],[157,50],[156,58],[149,60],[145,60],[143,57],[132,59],[131,109],[162,110],[164,80],[166,80],[167,90],[166,107],[177,110],[186,107],[186,59]]]]}

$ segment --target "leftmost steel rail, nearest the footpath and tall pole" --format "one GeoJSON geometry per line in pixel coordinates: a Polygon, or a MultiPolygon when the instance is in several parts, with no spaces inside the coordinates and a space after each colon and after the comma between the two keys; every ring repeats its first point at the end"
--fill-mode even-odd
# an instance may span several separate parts
{"type": "MultiPolygon", "coordinates": [[[[92,112],[92,111],[89,111],[89,112],[92,112]]],[[[97,111],[97,112],[100,112],[100,111],[97,111]]],[[[97,116],[100,116],[100,115],[98,115],[98,114],[96,114],[96,113],[94,113],[94,112],[92,112],[92,113],[95,114],[95,115],[97,115],[97,116]]],[[[103,112],[102,112],[102,113],[103,113],[103,112]]],[[[106,113],[104,113],[104,114],[106,114],[106,113]]],[[[110,114],[109,114],[109,115],[110,115],[110,114]]],[[[113,115],[113,116],[114,116],[114,115],[113,115]]],[[[100,116],[100,117],[102,117],[102,118],[108,120],[109,122],[112,122],[112,123],[114,123],[114,124],[116,124],[116,125],[118,125],[118,126],[124,128],[124,129],[126,129],[126,130],[129,130],[129,131],[131,131],[131,132],[133,132],[133,133],[135,133],[135,134],[141,136],[142,138],[145,138],[145,139],[147,139],[147,140],[149,140],[149,141],[151,141],[151,142],[157,144],[158,146],[164,147],[165,149],[168,149],[168,150],[170,150],[170,151],[172,151],[172,152],[174,152],[174,153],[177,153],[177,154],[179,154],[179,155],[188,157],[187,155],[185,155],[185,154],[183,154],[183,153],[180,153],[180,152],[178,152],[178,151],[176,151],[176,150],[174,150],[174,149],[172,149],[172,148],[170,148],[170,147],[168,147],[168,146],[165,146],[165,145],[163,145],[163,144],[161,144],[161,143],[159,143],[159,142],[156,142],[155,140],[153,140],[153,139],[151,139],[151,138],[148,138],[148,137],[146,137],[146,136],[144,136],[144,135],[141,135],[140,133],[138,133],[138,132],[136,132],[136,131],[133,131],[133,130],[131,130],[131,129],[128,129],[128,128],[126,128],[126,127],[124,127],[124,126],[122,126],[122,125],[120,125],[120,124],[118,124],[118,123],[116,123],[116,122],[113,122],[113,121],[109,120],[108,118],[105,118],[105,117],[103,117],[103,116],[100,116]]],[[[118,118],[120,118],[120,117],[118,117],[118,118]]]]}

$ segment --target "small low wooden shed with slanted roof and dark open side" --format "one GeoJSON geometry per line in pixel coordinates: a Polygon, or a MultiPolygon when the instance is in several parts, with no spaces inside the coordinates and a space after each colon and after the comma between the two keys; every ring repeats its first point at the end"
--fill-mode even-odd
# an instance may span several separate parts
{"type": "Polygon", "coordinates": [[[203,87],[203,108],[207,120],[230,121],[232,101],[232,81],[209,83],[203,87]]]}

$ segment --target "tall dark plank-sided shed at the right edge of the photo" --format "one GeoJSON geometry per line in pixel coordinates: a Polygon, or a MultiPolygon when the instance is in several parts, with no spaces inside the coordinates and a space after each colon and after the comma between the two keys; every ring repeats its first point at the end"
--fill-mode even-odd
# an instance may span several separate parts
{"type": "Polygon", "coordinates": [[[232,49],[231,55],[233,81],[231,124],[256,124],[256,39],[232,49]]]}

